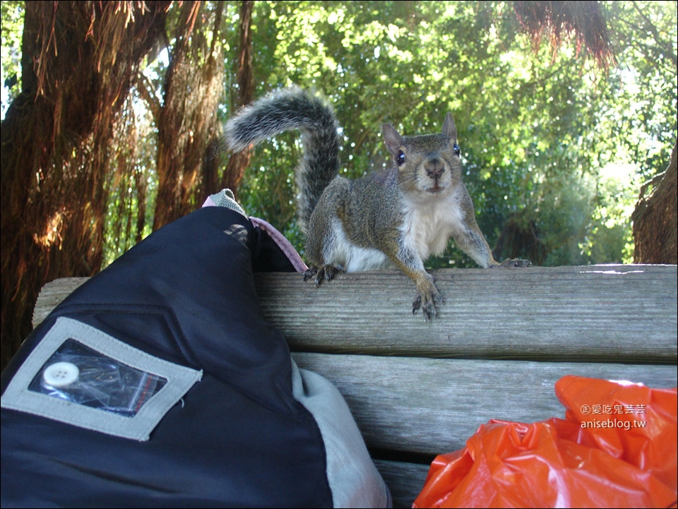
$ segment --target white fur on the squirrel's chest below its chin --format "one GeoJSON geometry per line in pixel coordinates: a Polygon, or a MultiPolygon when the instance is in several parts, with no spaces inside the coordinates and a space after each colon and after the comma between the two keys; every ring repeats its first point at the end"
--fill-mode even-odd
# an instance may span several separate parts
{"type": "Polygon", "coordinates": [[[422,261],[442,254],[450,236],[463,225],[459,188],[446,196],[403,196],[402,200],[400,233],[403,246],[417,253],[422,261]]]}

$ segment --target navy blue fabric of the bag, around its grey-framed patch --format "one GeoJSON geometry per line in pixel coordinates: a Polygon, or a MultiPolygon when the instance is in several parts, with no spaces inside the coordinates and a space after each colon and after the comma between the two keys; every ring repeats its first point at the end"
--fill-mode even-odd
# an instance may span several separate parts
{"type": "Polygon", "coordinates": [[[267,237],[232,210],[193,212],[33,331],[3,392],[59,316],[204,374],[148,442],[2,409],[3,507],[332,505],[321,434],[292,397],[289,349],[256,299],[253,267],[292,270],[267,237]]]}

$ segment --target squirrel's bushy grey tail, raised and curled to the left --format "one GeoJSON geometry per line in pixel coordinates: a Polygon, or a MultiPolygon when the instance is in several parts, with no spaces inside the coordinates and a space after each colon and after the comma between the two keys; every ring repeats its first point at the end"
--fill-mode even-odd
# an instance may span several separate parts
{"type": "Polygon", "coordinates": [[[287,88],[242,108],[227,121],[225,141],[231,150],[292,129],[302,131],[304,155],[297,167],[299,226],[307,231],[311,213],[330,181],[339,172],[341,138],[332,107],[300,88],[287,88]]]}

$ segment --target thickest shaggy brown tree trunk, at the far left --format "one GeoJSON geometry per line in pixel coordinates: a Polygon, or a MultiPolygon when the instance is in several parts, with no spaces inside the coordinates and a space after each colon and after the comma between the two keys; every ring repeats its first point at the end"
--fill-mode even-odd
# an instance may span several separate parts
{"type": "Polygon", "coordinates": [[[3,367],[40,287],[100,268],[111,126],[168,4],[25,4],[22,92],[1,127],[3,367]]]}

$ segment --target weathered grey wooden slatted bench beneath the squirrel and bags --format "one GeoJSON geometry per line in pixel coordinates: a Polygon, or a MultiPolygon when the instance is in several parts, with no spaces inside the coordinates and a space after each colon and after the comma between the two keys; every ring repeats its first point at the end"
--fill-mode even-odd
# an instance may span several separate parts
{"type": "MultiPolygon", "coordinates": [[[[255,276],[268,320],[299,367],[344,395],[396,507],[410,507],[439,453],[489,419],[564,417],[566,374],[670,388],[677,381],[675,265],[433,271],[436,320],[409,312],[398,271],[255,276]]],[[[42,289],[34,326],[84,279],[42,289]]]]}

